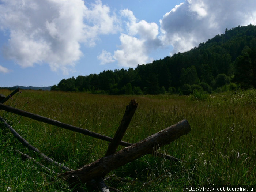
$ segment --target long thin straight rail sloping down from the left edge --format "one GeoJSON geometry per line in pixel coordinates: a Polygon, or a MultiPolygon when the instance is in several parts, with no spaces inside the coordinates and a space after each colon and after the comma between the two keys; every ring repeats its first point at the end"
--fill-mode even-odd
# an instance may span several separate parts
{"type": "MultiPolygon", "coordinates": [[[[65,123],[62,123],[60,121],[56,121],[56,120],[53,120],[53,119],[50,119],[50,118],[47,118],[47,117],[43,117],[43,116],[40,116],[40,115],[37,115],[37,114],[29,113],[29,112],[26,112],[24,110],[16,109],[14,107],[7,106],[7,105],[1,104],[1,103],[0,103],[0,109],[11,112],[11,113],[15,113],[15,114],[18,114],[18,115],[21,115],[21,116],[24,116],[24,117],[29,117],[29,118],[37,120],[37,121],[48,123],[50,125],[54,125],[54,126],[57,126],[57,127],[61,127],[61,128],[64,128],[64,129],[68,129],[68,130],[71,130],[71,131],[82,133],[84,135],[88,135],[88,136],[91,136],[91,137],[94,137],[94,138],[102,139],[102,140],[105,140],[105,141],[112,141],[112,138],[109,137],[109,136],[101,135],[99,133],[89,131],[88,129],[83,129],[83,128],[76,127],[76,126],[69,125],[69,124],[65,124],[65,123]]],[[[131,143],[121,141],[120,145],[130,146],[131,143]]]]}

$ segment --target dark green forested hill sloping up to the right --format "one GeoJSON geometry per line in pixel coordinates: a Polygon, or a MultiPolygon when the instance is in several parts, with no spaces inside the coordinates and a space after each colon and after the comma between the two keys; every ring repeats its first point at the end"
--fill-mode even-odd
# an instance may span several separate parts
{"type": "Polygon", "coordinates": [[[226,29],[184,53],[135,69],[61,80],[51,90],[108,94],[190,94],[193,90],[256,88],[256,26],[226,29]]]}

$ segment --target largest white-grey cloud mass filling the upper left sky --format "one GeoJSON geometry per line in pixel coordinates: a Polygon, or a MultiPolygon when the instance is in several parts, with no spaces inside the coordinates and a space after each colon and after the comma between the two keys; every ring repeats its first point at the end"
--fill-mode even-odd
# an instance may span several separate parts
{"type": "Polygon", "coordinates": [[[22,67],[48,63],[67,74],[83,56],[80,44],[94,46],[99,35],[116,33],[120,23],[106,5],[83,0],[2,0],[0,29],[9,34],[7,58],[22,67]]]}

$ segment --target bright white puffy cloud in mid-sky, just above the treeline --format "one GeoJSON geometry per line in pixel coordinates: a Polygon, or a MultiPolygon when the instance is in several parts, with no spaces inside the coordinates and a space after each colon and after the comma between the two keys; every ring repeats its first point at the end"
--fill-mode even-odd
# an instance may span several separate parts
{"type": "Polygon", "coordinates": [[[124,67],[136,67],[138,64],[149,63],[153,59],[148,54],[159,48],[162,44],[158,39],[158,25],[140,20],[128,9],[120,11],[125,21],[127,34],[121,33],[121,45],[114,51],[113,58],[124,67]]]}

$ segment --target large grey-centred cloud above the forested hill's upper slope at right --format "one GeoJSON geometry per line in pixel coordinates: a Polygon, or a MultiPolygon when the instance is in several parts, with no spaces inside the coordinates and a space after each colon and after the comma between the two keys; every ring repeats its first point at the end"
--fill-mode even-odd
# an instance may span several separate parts
{"type": "Polygon", "coordinates": [[[171,54],[184,52],[226,28],[255,25],[255,6],[255,0],[185,0],[160,20],[161,40],[174,47],[171,54]]]}

